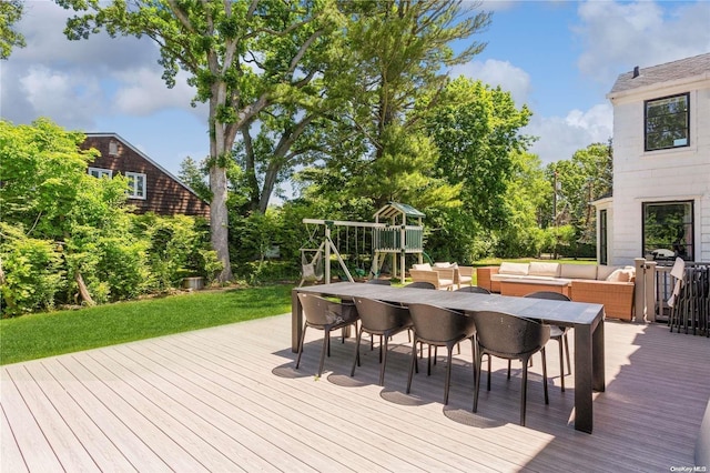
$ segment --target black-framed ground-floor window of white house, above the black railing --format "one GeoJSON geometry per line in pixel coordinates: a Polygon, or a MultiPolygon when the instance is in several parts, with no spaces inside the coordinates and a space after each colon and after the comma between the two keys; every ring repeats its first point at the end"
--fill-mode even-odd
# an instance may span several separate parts
{"type": "Polygon", "coordinates": [[[655,260],[680,256],[692,261],[692,201],[643,203],[643,254],[655,260]]]}

